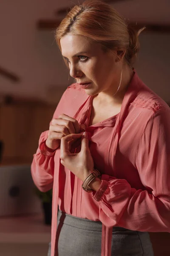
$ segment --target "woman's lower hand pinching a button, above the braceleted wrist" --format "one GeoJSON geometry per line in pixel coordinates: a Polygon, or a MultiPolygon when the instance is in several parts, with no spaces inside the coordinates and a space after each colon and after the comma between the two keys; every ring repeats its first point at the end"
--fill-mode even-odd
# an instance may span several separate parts
{"type": "Polygon", "coordinates": [[[60,159],[63,166],[68,168],[80,180],[84,181],[93,172],[94,161],[88,147],[88,134],[69,134],[61,139],[60,159]],[[87,136],[87,137],[86,137],[87,136]],[[81,139],[81,151],[71,154],[69,142],[81,139]]]}

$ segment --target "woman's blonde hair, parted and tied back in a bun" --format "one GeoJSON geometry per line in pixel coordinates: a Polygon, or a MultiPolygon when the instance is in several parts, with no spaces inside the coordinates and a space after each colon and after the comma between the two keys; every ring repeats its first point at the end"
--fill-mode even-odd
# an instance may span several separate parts
{"type": "MultiPolygon", "coordinates": [[[[125,51],[124,59],[132,66],[139,52],[138,36],[143,29],[137,32],[128,26],[125,19],[107,3],[87,0],[68,12],[57,28],[55,38],[61,51],[60,39],[64,35],[69,32],[73,35],[84,35],[101,44],[106,51],[125,51]]],[[[67,64],[65,59],[64,61],[67,64]]]]}

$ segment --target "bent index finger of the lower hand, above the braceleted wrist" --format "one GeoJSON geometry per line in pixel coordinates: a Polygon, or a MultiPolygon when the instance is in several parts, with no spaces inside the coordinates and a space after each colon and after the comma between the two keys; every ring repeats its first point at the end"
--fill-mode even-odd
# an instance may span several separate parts
{"type": "Polygon", "coordinates": [[[82,134],[69,134],[68,136],[62,137],[61,146],[60,146],[60,158],[65,157],[65,154],[70,153],[68,150],[68,142],[73,139],[77,139],[81,137],[82,137],[82,134]]]}

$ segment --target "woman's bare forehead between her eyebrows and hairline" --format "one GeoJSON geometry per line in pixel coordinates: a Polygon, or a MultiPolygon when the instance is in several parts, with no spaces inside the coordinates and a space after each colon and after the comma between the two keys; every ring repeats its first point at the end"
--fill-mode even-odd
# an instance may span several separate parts
{"type": "MultiPolygon", "coordinates": [[[[94,52],[97,50],[96,43],[90,41],[82,35],[72,35],[68,33],[60,39],[62,55],[73,56],[77,52],[94,52]]],[[[99,45],[98,45],[99,47],[99,45]]]]}

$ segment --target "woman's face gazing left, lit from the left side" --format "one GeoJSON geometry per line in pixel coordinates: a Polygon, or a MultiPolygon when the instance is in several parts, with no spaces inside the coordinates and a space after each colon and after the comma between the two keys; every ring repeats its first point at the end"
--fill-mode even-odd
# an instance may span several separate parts
{"type": "Polygon", "coordinates": [[[112,52],[85,36],[68,33],[60,40],[62,55],[68,61],[70,76],[77,83],[90,83],[85,92],[96,95],[114,93],[120,81],[119,62],[112,52]]]}

